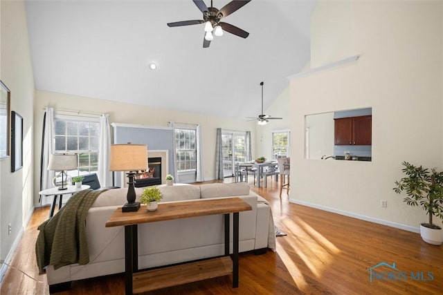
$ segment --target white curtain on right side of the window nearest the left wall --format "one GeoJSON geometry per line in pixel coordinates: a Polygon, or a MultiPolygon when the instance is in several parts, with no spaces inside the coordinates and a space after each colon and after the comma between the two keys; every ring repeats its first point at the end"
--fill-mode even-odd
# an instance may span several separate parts
{"type": "Polygon", "coordinates": [[[100,116],[100,142],[98,148],[98,181],[101,187],[111,187],[112,173],[109,171],[109,153],[111,149],[111,127],[109,115],[100,116]]]}

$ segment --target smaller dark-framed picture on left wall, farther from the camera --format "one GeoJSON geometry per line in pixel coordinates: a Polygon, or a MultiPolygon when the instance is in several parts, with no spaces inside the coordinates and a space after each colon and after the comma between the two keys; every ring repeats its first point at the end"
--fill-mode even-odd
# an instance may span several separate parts
{"type": "Polygon", "coordinates": [[[23,117],[11,112],[11,172],[23,167],[23,117]]]}

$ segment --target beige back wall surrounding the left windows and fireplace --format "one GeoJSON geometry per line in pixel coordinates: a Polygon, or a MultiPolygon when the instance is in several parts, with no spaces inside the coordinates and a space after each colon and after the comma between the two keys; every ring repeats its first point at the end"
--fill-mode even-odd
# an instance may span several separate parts
{"type": "MultiPolygon", "coordinates": [[[[42,124],[44,115],[44,106],[50,106],[55,109],[69,109],[73,111],[84,111],[93,113],[109,113],[111,123],[142,124],[146,126],[168,126],[169,121],[201,124],[204,145],[204,166],[205,180],[215,179],[215,135],[218,127],[235,131],[253,131],[252,140],[254,142],[253,122],[239,122],[229,120],[223,117],[214,117],[201,115],[197,113],[186,113],[172,111],[163,108],[150,108],[138,106],[135,104],[111,102],[102,99],[93,99],[89,97],[78,97],[73,95],[64,95],[61,93],[51,93],[46,91],[36,91],[35,93],[35,193],[38,193],[39,183],[39,159],[40,146],[42,145],[42,124]]],[[[38,202],[37,196],[35,202],[38,202]]]]}

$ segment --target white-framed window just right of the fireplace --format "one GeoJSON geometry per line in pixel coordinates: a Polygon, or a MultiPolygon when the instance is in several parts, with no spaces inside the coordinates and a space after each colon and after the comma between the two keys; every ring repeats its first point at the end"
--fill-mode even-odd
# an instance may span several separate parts
{"type": "Polygon", "coordinates": [[[195,129],[175,129],[178,173],[196,171],[197,145],[195,133],[195,129]]]}

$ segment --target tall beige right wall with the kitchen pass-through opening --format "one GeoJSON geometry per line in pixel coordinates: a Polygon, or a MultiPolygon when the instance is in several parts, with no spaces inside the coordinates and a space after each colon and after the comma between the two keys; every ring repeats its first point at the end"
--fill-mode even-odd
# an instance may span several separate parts
{"type": "Polygon", "coordinates": [[[292,202],[414,231],[426,220],[392,188],[402,161],[443,169],[442,19],[442,1],[318,3],[312,68],[361,57],[291,80],[292,202]],[[305,115],[368,106],[372,162],[305,160],[305,115]]]}

